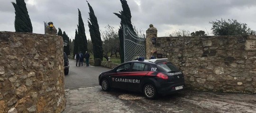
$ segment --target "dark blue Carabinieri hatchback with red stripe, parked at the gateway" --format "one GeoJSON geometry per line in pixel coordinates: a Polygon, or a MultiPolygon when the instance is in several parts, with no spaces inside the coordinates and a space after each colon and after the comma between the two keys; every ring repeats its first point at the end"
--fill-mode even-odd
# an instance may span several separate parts
{"type": "Polygon", "coordinates": [[[167,58],[144,60],[143,57],[101,73],[99,84],[104,91],[111,88],[138,91],[149,99],[182,91],[185,85],[183,73],[167,58]]]}

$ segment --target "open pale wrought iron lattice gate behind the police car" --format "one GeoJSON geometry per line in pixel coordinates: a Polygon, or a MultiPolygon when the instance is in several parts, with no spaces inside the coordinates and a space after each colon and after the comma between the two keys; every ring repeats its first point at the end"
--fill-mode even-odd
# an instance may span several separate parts
{"type": "Polygon", "coordinates": [[[145,35],[139,37],[127,25],[123,25],[124,32],[124,62],[135,60],[137,56],[145,57],[145,35]]]}

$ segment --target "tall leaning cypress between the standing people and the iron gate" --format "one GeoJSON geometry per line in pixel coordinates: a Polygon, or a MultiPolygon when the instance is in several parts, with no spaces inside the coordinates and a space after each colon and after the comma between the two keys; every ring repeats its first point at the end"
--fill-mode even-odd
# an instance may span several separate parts
{"type": "Polygon", "coordinates": [[[102,40],[101,40],[101,33],[99,30],[98,20],[88,1],[87,1],[87,4],[90,10],[89,12],[90,18],[88,18],[90,22],[88,21],[88,26],[89,26],[90,36],[91,36],[91,42],[93,44],[93,56],[94,58],[100,58],[102,60],[103,48],[102,48],[102,40]]]}

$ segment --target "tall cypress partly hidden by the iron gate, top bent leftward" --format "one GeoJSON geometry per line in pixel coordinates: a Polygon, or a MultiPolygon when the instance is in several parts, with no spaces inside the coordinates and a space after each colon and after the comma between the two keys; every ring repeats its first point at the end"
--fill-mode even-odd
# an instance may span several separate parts
{"type": "MultiPolygon", "coordinates": [[[[118,16],[121,19],[121,26],[119,28],[118,34],[119,34],[119,41],[120,41],[120,59],[121,63],[124,63],[124,36],[123,36],[123,25],[128,25],[129,29],[134,32],[133,26],[131,24],[131,11],[127,4],[126,0],[120,0],[122,4],[123,11],[119,11],[120,14],[114,13],[116,16],[118,16]]],[[[136,41],[136,40],[133,40],[136,41]]]]}

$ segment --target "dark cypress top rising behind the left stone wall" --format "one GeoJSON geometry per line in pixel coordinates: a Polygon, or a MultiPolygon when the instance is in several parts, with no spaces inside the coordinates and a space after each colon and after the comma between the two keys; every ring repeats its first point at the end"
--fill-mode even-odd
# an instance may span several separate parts
{"type": "Polygon", "coordinates": [[[24,0],[16,0],[11,2],[15,9],[15,31],[16,32],[33,32],[31,20],[29,18],[26,3],[24,0]]]}

